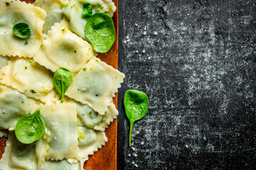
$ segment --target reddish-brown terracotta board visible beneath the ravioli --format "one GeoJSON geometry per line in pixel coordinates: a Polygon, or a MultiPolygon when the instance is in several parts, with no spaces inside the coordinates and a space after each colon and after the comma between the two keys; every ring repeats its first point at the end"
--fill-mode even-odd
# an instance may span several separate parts
{"type": "MultiPolygon", "coordinates": [[[[33,3],[34,0],[21,0],[27,3],[33,3]]],[[[116,29],[116,40],[114,45],[109,52],[105,54],[100,54],[100,60],[112,65],[115,69],[118,66],[118,0],[114,1],[115,6],[117,6],[117,11],[114,13],[113,21],[114,27],[116,29]]],[[[117,107],[117,94],[113,98],[114,105],[117,107]]],[[[105,130],[107,135],[107,143],[102,149],[95,152],[89,157],[89,160],[85,162],[84,168],[86,170],[114,170],[117,169],[117,120],[114,120],[109,128],[105,130]]],[[[0,158],[4,153],[4,147],[6,146],[6,138],[0,138],[0,158]]]]}

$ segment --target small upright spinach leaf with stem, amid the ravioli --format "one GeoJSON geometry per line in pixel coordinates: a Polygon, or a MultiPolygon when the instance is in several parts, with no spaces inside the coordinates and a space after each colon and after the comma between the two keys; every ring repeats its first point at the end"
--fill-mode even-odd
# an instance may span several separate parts
{"type": "Polygon", "coordinates": [[[61,102],[64,101],[65,91],[68,89],[72,81],[72,74],[68,69],[58,68],[53,76],[53,84],[56,91],[61,96],[61,102]]]}

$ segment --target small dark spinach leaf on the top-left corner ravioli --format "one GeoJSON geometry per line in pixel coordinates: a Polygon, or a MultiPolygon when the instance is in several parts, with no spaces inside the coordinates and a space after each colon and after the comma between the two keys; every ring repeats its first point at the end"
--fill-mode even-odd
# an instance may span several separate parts
{"type": "Polygon", "coordinates": [[[29,30],[27,23],[17,23],[13,28],[13,33],[18,38],[29,38],[31,36],[31,31],[29,30]]]}

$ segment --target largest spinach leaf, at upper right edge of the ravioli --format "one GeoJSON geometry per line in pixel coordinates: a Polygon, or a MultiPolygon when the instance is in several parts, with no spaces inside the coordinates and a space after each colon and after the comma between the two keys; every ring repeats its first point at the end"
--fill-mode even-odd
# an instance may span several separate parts
{"type": "Polygon", "coordinates": [[[112,18],[105,13],[95,13],[86,23],[85,38],[96,52],[108,52],[115,40],[112,18]]]}

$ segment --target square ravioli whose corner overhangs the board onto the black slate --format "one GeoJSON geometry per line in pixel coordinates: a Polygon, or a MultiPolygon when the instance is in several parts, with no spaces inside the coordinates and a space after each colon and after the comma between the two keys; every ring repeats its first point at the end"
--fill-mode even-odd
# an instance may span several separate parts
{"type": "Polygon", "coordinates": [[[75,75],[65,95],[104,115],[123,79],[124,74],[93,57],[75,75]]]}

